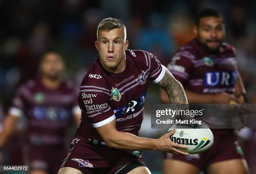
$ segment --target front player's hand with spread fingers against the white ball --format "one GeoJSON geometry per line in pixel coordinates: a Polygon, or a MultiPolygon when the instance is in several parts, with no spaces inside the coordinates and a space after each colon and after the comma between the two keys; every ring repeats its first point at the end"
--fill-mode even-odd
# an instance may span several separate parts
{"type": "Polygon", "coordinates": [[[170,137],[175,133],[175,129],[172,129],[172,131],[168,132],[167,134],[164,134],[162,137],[160,137],[158,140],[158,150],[169,152],[172,154],[180,154],[184,156],[189,156],[189,153],[182,152],[179,149],[187,149],[187,146],[177,144],[172,142],[170,137]]]}

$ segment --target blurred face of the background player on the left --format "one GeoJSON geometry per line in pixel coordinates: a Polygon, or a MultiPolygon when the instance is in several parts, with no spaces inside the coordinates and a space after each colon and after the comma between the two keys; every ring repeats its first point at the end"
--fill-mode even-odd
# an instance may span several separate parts
{"type": "Polygon", "coordinates": [[[44,77],[50,79],[59,78],[64,70],[64,62],[61,55],[55,52],[47,53],[41,62],[40,70],[44,77]]]}

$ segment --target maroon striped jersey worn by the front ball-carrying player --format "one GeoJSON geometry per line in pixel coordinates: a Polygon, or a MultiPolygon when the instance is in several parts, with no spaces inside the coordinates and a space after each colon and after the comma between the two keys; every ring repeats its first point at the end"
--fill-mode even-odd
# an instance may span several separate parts
{"type": "Polygon", "coordinates": [[[82,120],[79,137],[101,139],[94,127],[116,119],[118,131],[138,135],[148,80],[159,82],[165,73],[159,60],[151,53],[126,50],[126,68],[121,73],[107,72],[99,58],[90,66],[82,81],[79,106],[82,120]]]}

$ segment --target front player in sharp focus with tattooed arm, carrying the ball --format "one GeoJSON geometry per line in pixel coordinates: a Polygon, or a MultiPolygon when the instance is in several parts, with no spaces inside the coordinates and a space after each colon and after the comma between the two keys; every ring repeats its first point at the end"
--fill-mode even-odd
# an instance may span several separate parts
{"type": "Polygon", "coordinates": [[[137,136],[148,82],[164,88],[173,103],[187,103],[182,85],[153,54],[127,49],[120,20],[100,22],[95,46],[99,57],[79,92],[82,121],[58,174],[149,174],[142,150],[189,155],[177,149],[187,147],[169,138],[174,131],[159,139],[137,136]]]}

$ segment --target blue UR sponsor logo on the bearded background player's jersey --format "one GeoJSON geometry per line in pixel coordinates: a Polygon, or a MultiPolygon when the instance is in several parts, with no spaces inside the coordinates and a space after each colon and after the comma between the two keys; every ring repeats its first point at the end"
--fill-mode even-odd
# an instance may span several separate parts
{"type": "Polygon", "coordinates": [[[234,87],[237,79],[237,72],[207,72],[205,73],[205,86],[218,87],[227,86],[234,87]]]}

